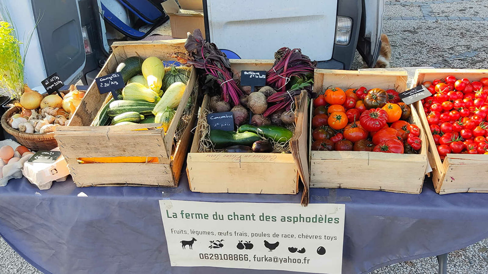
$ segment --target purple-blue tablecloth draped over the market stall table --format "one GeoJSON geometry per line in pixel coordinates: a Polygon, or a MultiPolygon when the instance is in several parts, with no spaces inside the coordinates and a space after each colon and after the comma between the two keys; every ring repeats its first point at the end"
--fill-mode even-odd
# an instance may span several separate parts
{"type": "MultiPolygon", "coordinates": [[[[178,188],[76,188],[68,180],[47,191],[22,178],[0,188],[0,234],[46,274],[230,273],[224,268],[170,267],[158,204],[162,198],[300,201],[300,195],[192,193],[185,176],[178,188]]],[[[345,274],[444,254],[488,236],[488,194],[439,196],[428,179],[420,195],[312,189],[311,202],[346,204],[345,274]]],[[[283,272],[233,269],[232,273],[283,272]]]]}

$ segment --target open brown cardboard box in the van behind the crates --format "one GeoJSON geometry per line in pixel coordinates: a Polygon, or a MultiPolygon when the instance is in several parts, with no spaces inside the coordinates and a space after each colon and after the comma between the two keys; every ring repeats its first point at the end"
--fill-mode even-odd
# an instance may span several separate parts
{"type": "Polygon", "coordinates": [[[205,38],[205,23],[203,20],[202,0],[167,0],[161,3],[164,12],[169,16],[171,36],[173,38],[187,38],[186,33],[193,33],[200,29],[205,38]]]}

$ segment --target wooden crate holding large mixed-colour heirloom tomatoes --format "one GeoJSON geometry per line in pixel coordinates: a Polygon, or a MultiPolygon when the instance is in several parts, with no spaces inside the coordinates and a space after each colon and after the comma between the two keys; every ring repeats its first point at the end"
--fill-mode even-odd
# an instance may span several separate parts
{"type": "MultiPolygon", "coordinates": [[[[314,89],[332,86],[407,89],[407,72],[315,70],[314,89]]],[[[421,121],[413,106],[410,123],[421,121]]],[[[310,107],[312,113],[313,108],[310,107]]],[[[310,128],[310,143],[312,143],[310,128]]],[[[422,192],[427,170],[427,141],[422,131],[419,154],[363,151],[310,151],[310,187],[382,190],[398,193],[422,192]]]]}

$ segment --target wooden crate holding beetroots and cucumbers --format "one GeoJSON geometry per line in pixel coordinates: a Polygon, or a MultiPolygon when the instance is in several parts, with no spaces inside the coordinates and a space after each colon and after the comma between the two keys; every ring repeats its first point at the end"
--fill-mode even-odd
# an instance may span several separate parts
{"type": "MultiPolygon", "coordinates": [[[[272,67],[273,62],[274,60],[231,60],[232,69],[237,72],[267,71],[272,67]]],[[[300,169],[305,170],[306,174],[303,174],[302,179],[306,185],[305,189],[308,189],[307,138],[306,134],[302,135],[306,133],[308,122],[306,115],[308,98],[305,92],[297,97],[301,98],[297,104],[303,107],[301,113],[296,112],[296,120],[301,121],[302,127],[299,128],[297,123],[294,138],[301,136],[299,146],[301,152],[305,153],[301,163],[292,154],[199,152],[200,127],[206,123],[205,113],[208,109],[209,98],[205,96],[187,158],[186,172],[190,190],[206,193],[297,194],[300,169]]],[[[297,109],[300,107],[297,106],[297,109]]]]}

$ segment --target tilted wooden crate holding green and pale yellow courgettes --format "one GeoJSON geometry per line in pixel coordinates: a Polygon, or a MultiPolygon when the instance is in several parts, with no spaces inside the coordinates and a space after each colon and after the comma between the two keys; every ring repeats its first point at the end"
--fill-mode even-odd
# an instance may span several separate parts
{"type": "MultiPolygon", "coordinates": [[[[127,57],[156,56],[175,60],[174,52],[184,52],[186,39],[166,41],[114,42],[113,52],[97,77],[113,73],[127,57]]],[[[68,126],[59,127],[56,139],[78,187],[85,186],[165,186],[176,187],[196,120],[198,85],[192,70],[183,98],[168,131],[161,124],[89,126],[108,99],[92,83],[68,126]],[[186,107],[192,98],[190,107],[186,107]],[[179,124],[181,119],[185,122],[179,124]],[[146,129],[146,130],[144,130],[146,129]],[[83,163],[80,157],[158,157],[156,163],[83,163]]]]}

